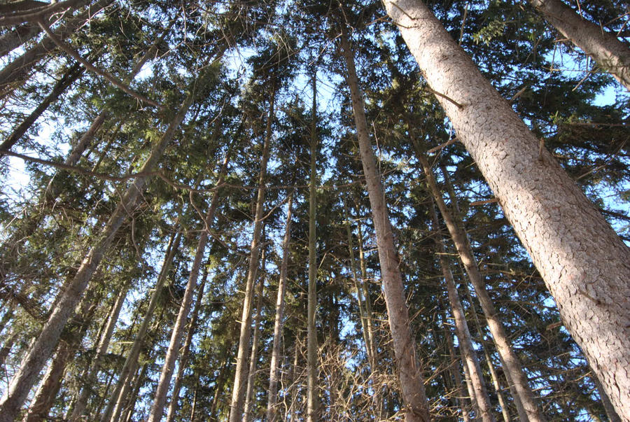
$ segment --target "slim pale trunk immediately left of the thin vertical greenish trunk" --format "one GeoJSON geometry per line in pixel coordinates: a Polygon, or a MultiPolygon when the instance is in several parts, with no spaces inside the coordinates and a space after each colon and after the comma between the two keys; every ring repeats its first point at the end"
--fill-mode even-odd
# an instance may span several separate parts
{"type": "Polygon", "coordinates": [[[280,263],[280,278],[278,281],[278,295],[276,297],[276,316],[274,321],[274,343],[272,346],[271,363],[269,364],[269,395],[267,400],[267,421],[276,422],[278,419],[278,372],[280,361],[280,340],[284,325],[284,296],[286,293],[286,271],[289,260],[289,246],[291,241],[291,213],[293,208],[293,190],[289,193],[284,239],[282,241],[282,262],[280,263]]]}

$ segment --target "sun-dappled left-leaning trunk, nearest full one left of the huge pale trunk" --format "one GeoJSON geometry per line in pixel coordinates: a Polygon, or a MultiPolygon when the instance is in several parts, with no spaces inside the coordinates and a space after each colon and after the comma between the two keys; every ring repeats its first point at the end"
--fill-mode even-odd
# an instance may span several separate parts
{"type": "MultiPolygon", "coordinates": [[[[412,142],[415,142],[415,140],[412,140],[412,142]]],[[[505,362],[505,370],[510,373],[510,378],[514,382],[514,388],[516,389],[519,399],[526,411],[527,420],[537,422],[545,421],[545,417],[536,405],[531,388],[528,386],[527,378],[525,377],[520,360],[516,353],[514,353],[510,340],[505,333],[503,322],[500,320],[498,312],[496,311],[490,296],[486,292],[485,282],[479,273],[477,260],[472,254],[472,248],[468,243],[468,237],[466,237],[465,233],[461,229],[463,225],[454,220],[454,217],[451,215],[449,209],[447,209],[446,204],[444,204],[444,199],[442,198],[439,188],[437,188],[437,183],[435,182],[433,170],[431,169],[429,162],[421,153],[417,155],[417,158],[426,175],[426,181],[431,195],[433,195],[437,208],[440,209],[440,213],[442,213],[444,223],[446,223],[457,253],[463,262],[466,274],[468,274],[472,286],[475,287],[475,293],[477,293],[479,303],[482,305],[484,315],[488,320],[488,325],[496,344],[497,351],[505,362]]],[[[521,419],[524,419],[524,416],[525,415],[521,415],[521,419]]]]}

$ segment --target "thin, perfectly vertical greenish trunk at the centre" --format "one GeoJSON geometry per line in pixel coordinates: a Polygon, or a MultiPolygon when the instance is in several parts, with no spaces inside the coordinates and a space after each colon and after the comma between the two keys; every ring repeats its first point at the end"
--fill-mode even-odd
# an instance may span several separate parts
{"type": "Polygon", "coordinates": [[[317,69],[313,71],[313,107],[311,109],[311,172],[309,176],[309,288],[307,309],[307,422],[318,419],[317,400],[317,328],[315,325],[317,308],[317,251],[315,242],[317,210],[317,69]]]}

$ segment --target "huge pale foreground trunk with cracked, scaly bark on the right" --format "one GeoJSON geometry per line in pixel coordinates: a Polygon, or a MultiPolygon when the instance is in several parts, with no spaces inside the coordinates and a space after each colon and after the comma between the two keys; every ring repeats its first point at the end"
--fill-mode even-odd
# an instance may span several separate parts
{"type": "Polygon", "coordinates": [[[386,0],[430,88],[630,421],[630,250],[419,0],[386,0]]]}

